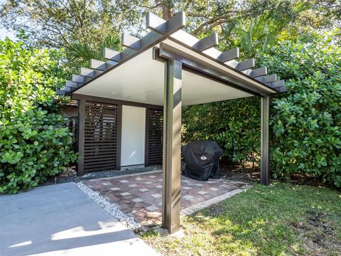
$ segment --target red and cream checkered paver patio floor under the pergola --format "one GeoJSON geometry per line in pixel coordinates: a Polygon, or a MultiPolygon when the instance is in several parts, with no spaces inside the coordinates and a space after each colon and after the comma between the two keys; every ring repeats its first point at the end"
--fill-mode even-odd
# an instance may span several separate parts
{"type": "MultiPolygon", "coordinates": [[[[142,225],[161,223],[162,172],[83,181],[142,225]]],[[[181,209],[221,196],[242,186],[227,180],[194,181],[181,176],[181,209]]]]}

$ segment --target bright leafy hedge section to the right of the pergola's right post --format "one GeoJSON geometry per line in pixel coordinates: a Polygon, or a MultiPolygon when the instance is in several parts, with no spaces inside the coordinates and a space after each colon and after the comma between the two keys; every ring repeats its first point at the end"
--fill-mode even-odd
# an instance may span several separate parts
{"type": "Polygon", "coordinates": [[[262,55],[289,93],[273,102],[274,178],[308,174],[341,187],[341,49],[332,34],[262,55]]]}

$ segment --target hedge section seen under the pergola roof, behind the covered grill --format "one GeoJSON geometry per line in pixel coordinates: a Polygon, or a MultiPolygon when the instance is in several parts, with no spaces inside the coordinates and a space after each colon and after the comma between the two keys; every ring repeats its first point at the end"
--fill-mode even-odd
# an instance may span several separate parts
{"type": "Polygon", "coordinates": [[[258,97],[247,97],[185,107],[183,142],[212,139],[224,149],[229,162],[255,162],[261,147],[260,104],[258,97]]]}

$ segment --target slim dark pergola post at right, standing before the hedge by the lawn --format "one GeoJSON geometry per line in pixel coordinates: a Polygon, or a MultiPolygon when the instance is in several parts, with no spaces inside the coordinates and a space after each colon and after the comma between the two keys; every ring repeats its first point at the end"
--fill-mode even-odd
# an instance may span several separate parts
{"type": "Polygon", "coordinates": [[[261,184],[269,185],[269,112],[270,97],[261,97],[261,184]]]}

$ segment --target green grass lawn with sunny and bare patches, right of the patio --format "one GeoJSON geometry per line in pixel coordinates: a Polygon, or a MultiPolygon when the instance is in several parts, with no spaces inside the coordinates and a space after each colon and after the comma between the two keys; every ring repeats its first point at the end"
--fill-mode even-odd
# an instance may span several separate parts
{"type": "Polygon", "coordinates": [[[183,219],[183,238],[149,230],[163,255],[341,255],[341,193],[255,185],[183,219]]]}

